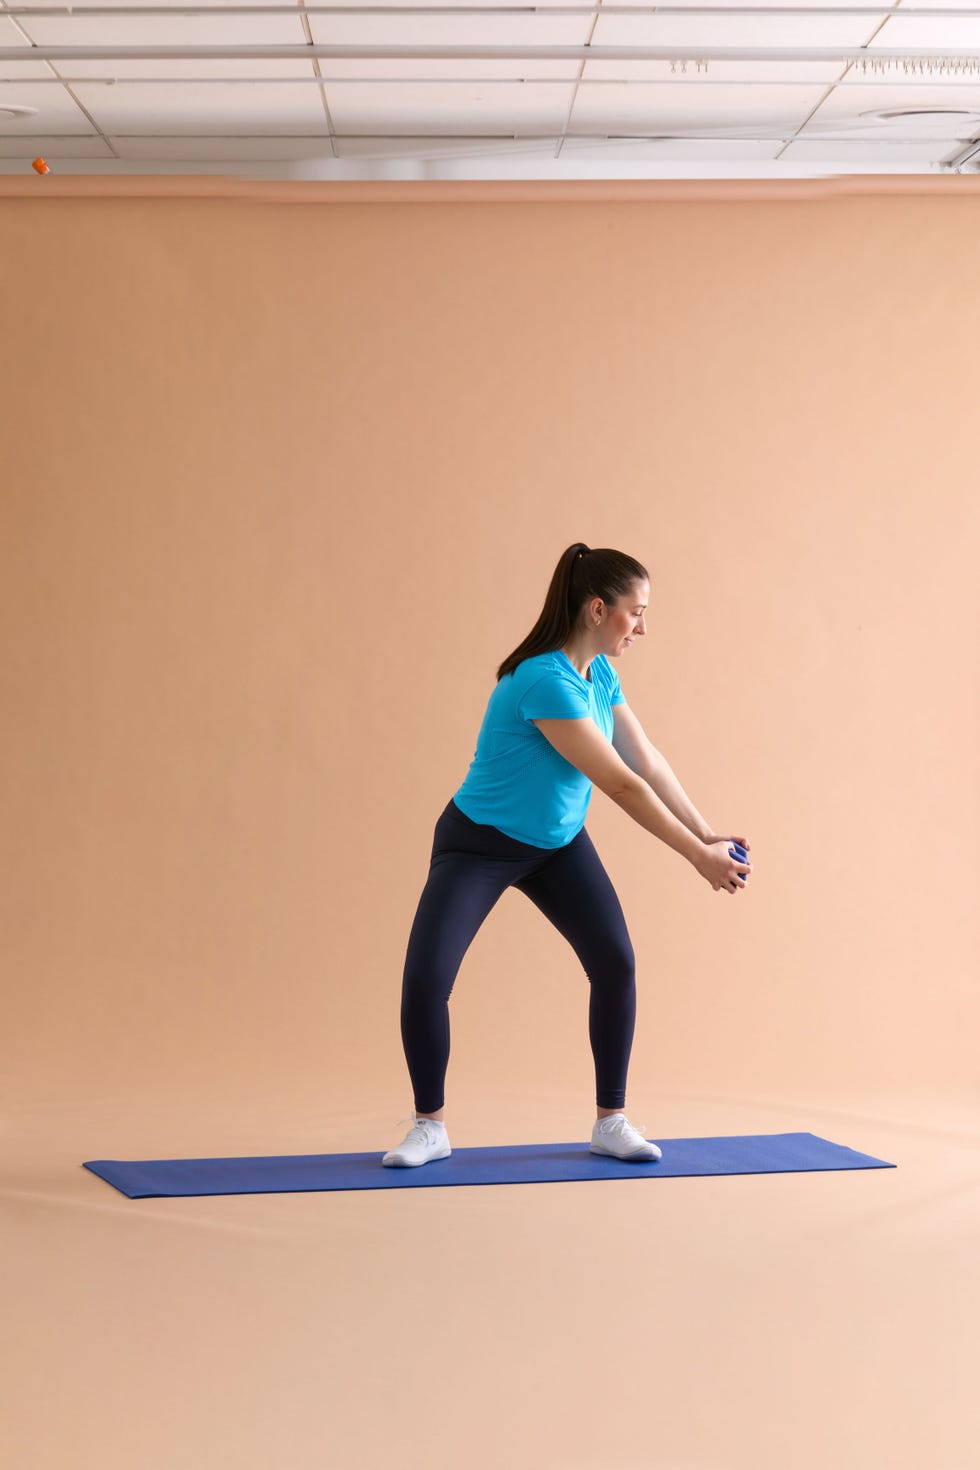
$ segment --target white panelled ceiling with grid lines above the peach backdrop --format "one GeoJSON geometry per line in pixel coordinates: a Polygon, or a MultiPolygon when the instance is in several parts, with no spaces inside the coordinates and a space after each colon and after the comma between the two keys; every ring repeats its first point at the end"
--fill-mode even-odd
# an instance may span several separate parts
{"type": "Polygon", "coordinates": [[[267,178],[980,169],[980,7],[962,0],[264,0],[242,13],[259,3],[0,0],[0,172],[38,154],[60,172],[267,178]],[[141,54],[106,54],[118,47],[141,54]],[[219,54],[187,54],[201,47],[219,54]],[[32,54],[46,49],[59,54],[32,54]]]}

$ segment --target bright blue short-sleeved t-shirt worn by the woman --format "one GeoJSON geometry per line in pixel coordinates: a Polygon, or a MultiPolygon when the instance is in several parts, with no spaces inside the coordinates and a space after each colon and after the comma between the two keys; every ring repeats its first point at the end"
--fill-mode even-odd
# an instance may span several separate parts
{"type": "Polygon", "coordinates": [[[489,697],[466,781],[453,795],[464,816],[533,847],[567,847],[577,836],[592,782],[532,720],[591,714],[611,741],[613,706],[626,695],[605,654],[595,656],[589,675],[583,679],[561,648],[504,675],[489,697]]]}

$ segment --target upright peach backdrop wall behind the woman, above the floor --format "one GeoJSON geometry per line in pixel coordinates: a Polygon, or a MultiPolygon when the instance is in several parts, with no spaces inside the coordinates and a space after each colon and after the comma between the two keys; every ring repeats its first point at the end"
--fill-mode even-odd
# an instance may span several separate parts
{"type": "MultiPolygon", "coordinates": [[[[407,1111],[432,828],[574,539],[757,864],[594,792],[630,1098],[976,1095],[980,196],[295,200],[0,200],[9,1097],[407,1111]]],[[[591,1104],[586,1008],[505,894],[450,1107],[591,1104]]]]}

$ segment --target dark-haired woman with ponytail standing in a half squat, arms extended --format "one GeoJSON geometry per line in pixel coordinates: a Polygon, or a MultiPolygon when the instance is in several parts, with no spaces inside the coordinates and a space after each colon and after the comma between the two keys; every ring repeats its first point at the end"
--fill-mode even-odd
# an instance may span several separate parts
{"type": "Polygon", "coordinates": [[[448,1001],[463,956],[507,888],[541,908],[589,979],[591,1151],[660,1158],[624,1111],[635,960],[616,889],[583,826],[592,785],[686,857],[716,892],[743,888],[752,864],[729,853],[732,841],[748,850],[743,838],[711,832],[620,689],[611,660],[646,632],[648,597],[639,562],[576,542],[555,567],[541,617],[497,670],[469,773],[435,825],[408,938],[401,1039],[414,1122],[383,1155],[388,1166],[451,1154],[444,1122],[448,1001]]]}

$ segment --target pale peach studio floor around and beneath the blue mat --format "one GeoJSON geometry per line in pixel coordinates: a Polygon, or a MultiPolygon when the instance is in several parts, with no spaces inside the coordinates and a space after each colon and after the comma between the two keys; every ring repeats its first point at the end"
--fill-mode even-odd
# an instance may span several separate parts
{"type": "MultiPolygon", "coordinates": [[[[12,1470],[977,1470],[980,1102],[630,1098],[896,1169],[128,1200],[87,1158],[392,1147],[282,1094],[9,1101],[12,1470]]],[[[454,1147],[588,1142],[547,1094],[454,1147]]]]}

